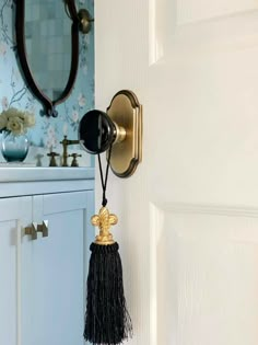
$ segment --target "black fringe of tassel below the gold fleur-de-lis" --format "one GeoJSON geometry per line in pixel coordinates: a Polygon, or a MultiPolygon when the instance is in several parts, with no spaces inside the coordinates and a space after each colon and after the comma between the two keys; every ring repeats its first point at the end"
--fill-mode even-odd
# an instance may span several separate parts
{"type": "Polygon", "coordinates": [[[92,243],[87,277],[84,338],[94,345],[116,345],[132,336],[117,242],[92,243]]]}

